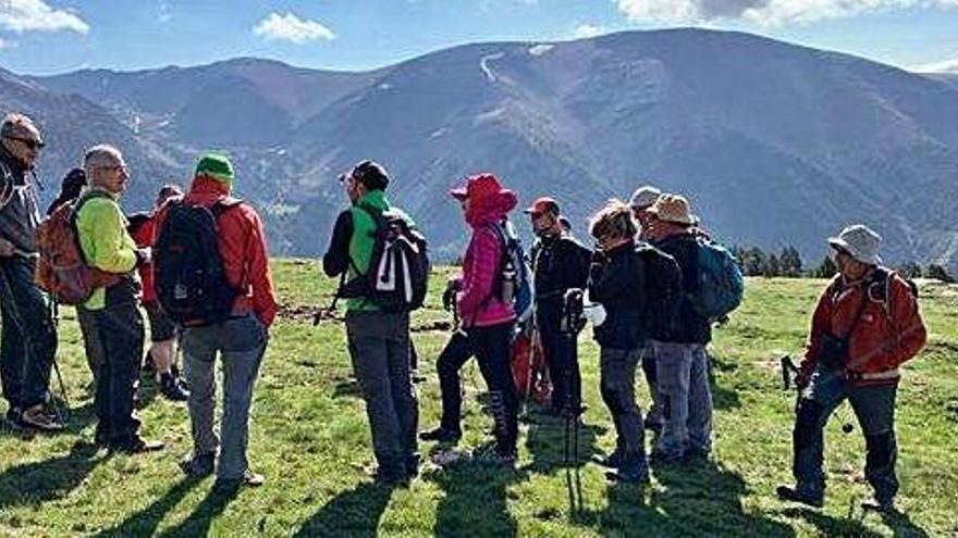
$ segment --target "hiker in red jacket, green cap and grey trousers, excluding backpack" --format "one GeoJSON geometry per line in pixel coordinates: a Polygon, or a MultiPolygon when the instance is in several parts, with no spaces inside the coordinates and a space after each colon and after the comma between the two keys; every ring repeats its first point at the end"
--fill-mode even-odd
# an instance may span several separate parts
{"type": "MultiPolygon", "coordinates": [[[[216,466],[216,488],[235,490],[259,486],[263,478],[249,470],[246,446],[249,430],[249,405],[259,366],[269,340],[269,327],[277,316],[277,297],[269,268],[268,248],[262,222],[246,202],[230,197],[233,165],[224,155],[205,154],[196,166],[186,207],[202,205],[219,214],[217,230],[219,254],[229,286],[236,291],[232,313],[223,322],[183,328],[183,363],[189,384],[189,418],[193,429],[193,454],[181,463],[189,476],[205,476],[216,466]],[[218,213],[214,207],[221,208],[218,213]],[[213,433],[216,411],[216,364],[221,355],[223,368],[222,442],[213,433]],[[219,462],[216,462],[219,449],[219,462]]],[[[179,202],[177,202],[179,203],[179,202]]],[[[163,298],[161,274],[164,220],[176,207],[167,203],[157,215],[155,278],[163,298]]],[[[172,224],[172,222],[170,223],[172,224]]]]}

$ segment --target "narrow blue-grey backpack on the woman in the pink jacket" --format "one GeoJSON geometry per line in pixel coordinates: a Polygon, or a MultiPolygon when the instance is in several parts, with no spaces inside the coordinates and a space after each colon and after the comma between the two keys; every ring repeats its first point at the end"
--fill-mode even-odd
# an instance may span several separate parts
{"type": "Polygon", "coordinates": [[[499,277],[493,284],[492,297],[499,296],[504,303],[512,303],[516,322],[523,324],[532,317],[532,303],[536,288],[532,284],[532,268],[523,249],[523,240],[513,224],[504,218],[493,224],[492,229],[503,246],[499,262],[499,277]]]}

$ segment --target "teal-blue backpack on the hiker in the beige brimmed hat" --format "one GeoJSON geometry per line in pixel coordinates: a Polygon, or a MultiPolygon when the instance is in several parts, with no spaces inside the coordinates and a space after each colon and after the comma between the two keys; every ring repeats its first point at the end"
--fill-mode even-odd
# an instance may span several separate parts
{"type": "Polygon", "coordinates": [[[720,320],[741,303],[745,279],[738,260],[717,242],[699,238],[696,273],[698,291],[689,295],[692,310],[709,321],[720,320]]]}

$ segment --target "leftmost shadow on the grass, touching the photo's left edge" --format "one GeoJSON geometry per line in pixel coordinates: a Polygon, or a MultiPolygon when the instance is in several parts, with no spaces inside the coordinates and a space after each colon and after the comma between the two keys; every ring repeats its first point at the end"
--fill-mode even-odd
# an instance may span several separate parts
{"type": "Polygon", "coordinates": [[[65,455],[4,471],[0,474],[0,511],[66,496],[106,459],[96,455],[97,447],[77,441],[65,455]]]}

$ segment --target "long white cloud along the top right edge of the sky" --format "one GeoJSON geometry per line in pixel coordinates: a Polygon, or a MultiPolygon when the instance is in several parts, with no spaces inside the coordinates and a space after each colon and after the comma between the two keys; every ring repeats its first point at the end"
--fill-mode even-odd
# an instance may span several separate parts
{"type": "Polygon", "coordinates": [[[811,23],[864,12],[958,8],[958,0],[613,0],[634,22],[707,23],[740,18],[765,26],[811,23]]]}

